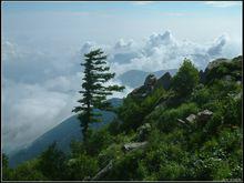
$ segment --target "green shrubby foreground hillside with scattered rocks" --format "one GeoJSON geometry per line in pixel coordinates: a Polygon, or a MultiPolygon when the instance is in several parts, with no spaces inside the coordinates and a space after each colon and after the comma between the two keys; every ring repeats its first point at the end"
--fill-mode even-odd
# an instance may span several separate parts
{"type": "Polygon", "coordinates": [[[243,172],[242,55],[199,71],[146,77],[115,109],[118,118],[71,143],[53,143],[3,180],[238,180],[243,172]]]}

